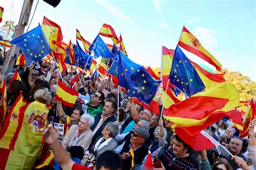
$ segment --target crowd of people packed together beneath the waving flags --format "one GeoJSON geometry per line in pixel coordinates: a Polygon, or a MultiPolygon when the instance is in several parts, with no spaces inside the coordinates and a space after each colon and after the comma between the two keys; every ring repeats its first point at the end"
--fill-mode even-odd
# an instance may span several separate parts
{"type": "MultiPolygon", "coordinates": [[[[43,104],[45,109],[49,105],[49,112],[44,110],[48,113],[49,124],[44,132],[45,142],[63,169],[147,169],[148,157],[151,157],[153,169],[256,167],[255,119],[250,123],[248,139],[237,137],[232,120],[219,120],[206,130],[233,156],[221,146],[197,152],[166,127],[160,115],[135,104],[134,98],[118,90],[111,78],[91,77],[90,73],[85,73],[70,84],[78,72],[66,70],[60,74],[53,64],[41,62],[18,73],[22,80],[12,81],[10,85],[7,114],[21,91],[31,107],[39,108],[43,104]],[[56,100],[58,81],[79,92],[74,107],[56,100]],[[65,125],[60,138],[59,128],[53,127],[55,123],[65,125]],[[134,154],[131,154],[132,148],[134,154]],[[79,162],[71,158],[78,158],[79,162]]],[[[13,74],[4,77],[6,86],[13,74]]],[[[161,107],[159,104],[160,110],[161,107]]],[[[32,163],[35,166],[42,160],[41,155],[32,163]]]]}

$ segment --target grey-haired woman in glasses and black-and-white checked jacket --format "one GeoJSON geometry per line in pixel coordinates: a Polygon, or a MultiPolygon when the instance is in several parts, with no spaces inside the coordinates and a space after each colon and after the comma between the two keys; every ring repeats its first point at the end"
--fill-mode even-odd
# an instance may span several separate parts
{"type": "Polygon", "coordinates": [[[81,162],[84,165],[87,161],[93,161],[98,158],[98,156],[105,151],[114,151],[117,148],[117,141],[114,139],[118,133],[118,125],[110,122],[104,126],[102,130],[102,136],[96,139],[90,147],[90,152],[87,151],[81,162]]]}

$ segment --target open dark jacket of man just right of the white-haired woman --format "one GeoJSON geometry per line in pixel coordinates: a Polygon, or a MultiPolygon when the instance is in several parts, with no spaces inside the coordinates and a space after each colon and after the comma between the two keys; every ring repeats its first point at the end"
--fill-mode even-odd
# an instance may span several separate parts
{"type": "MultiPolygon", "coordinates": [[[[93,131],[95,129],[95,127],[98,125],[99,120],[101,117],[102,113],[98,113],[95,116],[95,121],[94,124],[91,127],[91,130],[93,131]]],[[[95,135],[93,135],[92,141],[95,141],[95,139],[97,139],[100,135],[102,135],[102,130],[104,128],[104,126],[106,126],[107,123],[109,122],[115,122],[117,119],[116,117],[114,117],[114,114],[111,115],[111,117],[106,118],[106,120],[104,121],[104,123],[102,124],[102,126],[99,127],[98,131],[95,133],[95,135]]]]}

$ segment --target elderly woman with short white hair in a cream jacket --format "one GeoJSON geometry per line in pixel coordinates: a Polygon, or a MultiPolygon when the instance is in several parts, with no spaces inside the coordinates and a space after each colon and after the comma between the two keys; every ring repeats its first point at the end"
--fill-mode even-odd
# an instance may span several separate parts
{"type": "Polygon", "coordinates": [[[92,141],[91,126],[93,124],[94,117],[89,114],[83,114],[78,125],[70,127],[69,132],[62,141],[62,146],[67,149],[71,157],[82,159],[84,152],[87,151],[92,141]]]}

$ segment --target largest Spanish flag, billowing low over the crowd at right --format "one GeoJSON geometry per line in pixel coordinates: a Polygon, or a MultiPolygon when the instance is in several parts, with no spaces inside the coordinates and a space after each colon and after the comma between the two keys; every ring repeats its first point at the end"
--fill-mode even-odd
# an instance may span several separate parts
{"type": "Polygon", "coordinates": [[[181,139],[193,149],[198,150],[194,147],[196,144],[194,139],[206,127],[226,116],[234,122],[241,123],[241,114],[234,111],[238,105],[237,90],[234,85],[225,83],[171,105],[164,111],[164,119],[172,125],[171,127],[181,139]]]}

